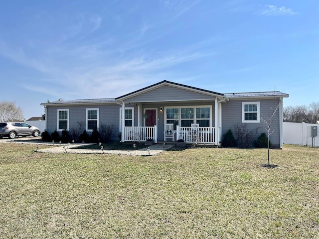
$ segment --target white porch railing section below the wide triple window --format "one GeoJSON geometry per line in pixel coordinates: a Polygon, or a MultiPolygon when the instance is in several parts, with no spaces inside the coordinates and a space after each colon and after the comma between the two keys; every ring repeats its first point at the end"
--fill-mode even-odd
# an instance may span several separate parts
{"type": "Polygon", "coordinates": [[[215,143],[215,127],[179,127],[176,126],[176,140],[186,143],[215,143]]]}

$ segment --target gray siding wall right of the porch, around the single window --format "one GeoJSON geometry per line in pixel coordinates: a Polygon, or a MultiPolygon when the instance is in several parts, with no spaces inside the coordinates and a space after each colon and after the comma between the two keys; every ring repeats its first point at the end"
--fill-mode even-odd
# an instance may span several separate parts
{"type": "MultiPolygon", "coordinates": [[[[222,135],[228,130],[231,129],[233,132],[234,137],[236,138],[236,134],[234,131],[234,124],[242,122],[242,102],[260,102],[260,118],[265,119],[272,115],[274,108],[274,100],[231,100],[228,103],[222,104],[222,135]]],[[[279,103],[279,100],[276,100],[276,103],[279,103]]],[[[279,123],[279,109],[276,112],[276,115],[273,117],[271,131],[274,132],[270,135],[270,141],[273,146],[279,147],[280,145],[280,123],[279,123]]],[[[244,123],[247,124],[248,129],[255,129],[258,127],[258,133],[255,135],[255,139],[267,131],[265,129],[265,124],[260,120],[259,123],[244,123]]]]}

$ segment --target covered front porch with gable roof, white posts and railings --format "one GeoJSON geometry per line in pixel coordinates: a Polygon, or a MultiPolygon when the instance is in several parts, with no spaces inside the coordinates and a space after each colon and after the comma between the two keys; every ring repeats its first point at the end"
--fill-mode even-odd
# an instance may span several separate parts
{"type": "Polygon", "coordinates": [[[122,142],[220,141],[223,94],[163,81],[116,100],[122,142]]]}

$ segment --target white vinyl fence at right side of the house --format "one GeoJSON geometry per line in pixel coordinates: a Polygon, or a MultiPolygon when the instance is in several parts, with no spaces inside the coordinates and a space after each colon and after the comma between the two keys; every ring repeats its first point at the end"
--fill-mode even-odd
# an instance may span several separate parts
{"type": "Polygon", "coordinates": [[[319,146],[319,124],[314,123],[291,123],[284,122],[283,133],[284,143],[287,144],[298,144],[307,146],[319,146]],[[312,126],[317,127],[317,137],[312,137],[312,126]],[[314,140],[314,141],[313,141],[314,140]]]}

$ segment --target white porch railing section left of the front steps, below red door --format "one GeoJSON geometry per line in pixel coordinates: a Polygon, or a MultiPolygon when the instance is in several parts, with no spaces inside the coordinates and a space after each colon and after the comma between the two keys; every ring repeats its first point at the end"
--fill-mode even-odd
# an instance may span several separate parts
{"type": "Polygon", "coordinates": [[[158,127],[155,126],[131,126],[124,127],[124,141],[146,141],[153,139],[155,143],[158,141],[158,127]]]}

